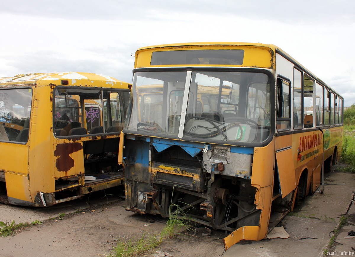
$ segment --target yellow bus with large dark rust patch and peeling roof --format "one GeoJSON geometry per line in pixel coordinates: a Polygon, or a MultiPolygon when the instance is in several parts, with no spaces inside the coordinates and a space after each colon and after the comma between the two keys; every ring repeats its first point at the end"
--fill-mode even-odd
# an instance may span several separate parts
{"type": "Polygon", "coordinates": [[[123,184],[130,87],[92,73],[0,78],[0,202],[47,207],[123,184]]]}

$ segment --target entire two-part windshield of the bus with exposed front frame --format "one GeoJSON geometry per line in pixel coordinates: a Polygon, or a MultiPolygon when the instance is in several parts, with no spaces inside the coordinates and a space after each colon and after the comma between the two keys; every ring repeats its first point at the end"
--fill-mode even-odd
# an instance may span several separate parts
{"type": "Polygon", "coordinates": [[[172,138],[181,138],[180,131],[186,140],[231,144],[262,143],[268,139],[271,133],[268,75],[230,71],[188,73],[136,72],[126,129],[172,138]],[[190,76],[190,83],[186,83],[190,76]]]}

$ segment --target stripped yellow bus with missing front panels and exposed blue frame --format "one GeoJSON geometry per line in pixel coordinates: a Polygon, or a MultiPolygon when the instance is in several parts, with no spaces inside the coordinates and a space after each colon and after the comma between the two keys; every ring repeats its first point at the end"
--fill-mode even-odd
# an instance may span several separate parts
{"type": "Polygon", "coordinates": [[[184,212],[225,230],[225,249],[323,192],[342,146],[342,96],[272,44],[140,48],[130,103],[127,210],[184,212]]]}

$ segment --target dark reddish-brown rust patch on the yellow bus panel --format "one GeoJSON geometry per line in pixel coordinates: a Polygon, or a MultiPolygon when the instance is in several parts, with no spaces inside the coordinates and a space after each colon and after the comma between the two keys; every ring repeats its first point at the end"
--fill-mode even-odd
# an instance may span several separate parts
{"type": "Polygon", "coordinates": [[[74,167],[74,160],[69,155],[81,149],[83,149],[81,143],[58,144],[54,151],[54,155],[59,157],[55,162],[57,170],[67,172],[74,167]]]}

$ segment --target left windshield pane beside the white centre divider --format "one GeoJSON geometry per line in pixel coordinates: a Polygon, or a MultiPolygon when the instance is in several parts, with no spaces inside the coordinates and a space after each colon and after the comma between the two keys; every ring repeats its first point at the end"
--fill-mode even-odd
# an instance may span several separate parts
{"type": "Polygon", "coordinates": [[[185,71],[135,73],[126,129],[177,136],[185,81],[185,71]]]}

